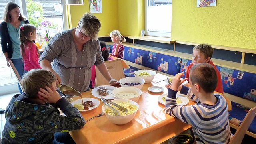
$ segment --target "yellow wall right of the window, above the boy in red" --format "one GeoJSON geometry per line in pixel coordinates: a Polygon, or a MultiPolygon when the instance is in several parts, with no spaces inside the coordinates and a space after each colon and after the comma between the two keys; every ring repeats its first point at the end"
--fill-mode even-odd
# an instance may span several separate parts
{"type": "Polygon", "coordinates": [[[171,38],[256,49],[256,1],[217,0],[197,8],[196,0],[172,0],[171,38]]]}

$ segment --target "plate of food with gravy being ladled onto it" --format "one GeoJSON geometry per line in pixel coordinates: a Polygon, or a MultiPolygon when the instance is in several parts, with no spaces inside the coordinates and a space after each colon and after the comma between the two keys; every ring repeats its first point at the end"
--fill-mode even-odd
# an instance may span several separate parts
{"type": "Polygon", "coordinates": [[[94,98],[83,98],[84,103],[82,103],[82,99],[78,99],[73,101],[71,104],[76,107],[80,112],[86,112],[92,110],[100,105],[100,101],[94,98]]]}

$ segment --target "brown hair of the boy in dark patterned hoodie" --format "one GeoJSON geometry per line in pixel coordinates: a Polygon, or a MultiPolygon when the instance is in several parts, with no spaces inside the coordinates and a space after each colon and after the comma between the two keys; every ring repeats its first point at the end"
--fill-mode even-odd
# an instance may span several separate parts
{"type": "Polygon", "coordinates": [[[22,87],[29,98],[38,98],[39,89],[50,87],[54,81],[56,81],[54,73],[44,69],[31,69],[23,75],[22,87]]]}

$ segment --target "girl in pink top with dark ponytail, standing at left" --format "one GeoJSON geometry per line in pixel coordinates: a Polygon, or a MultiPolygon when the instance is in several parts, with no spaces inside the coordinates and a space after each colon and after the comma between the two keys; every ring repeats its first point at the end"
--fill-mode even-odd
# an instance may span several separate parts
{"type": "Polygon", "coordinates": [[[24,24],[20,27],[20,52],[24,61],[24,74],[31,69],[41,69],[38,60],[40,52],[32,41],[36,39],[36,27],[24,24]]]}

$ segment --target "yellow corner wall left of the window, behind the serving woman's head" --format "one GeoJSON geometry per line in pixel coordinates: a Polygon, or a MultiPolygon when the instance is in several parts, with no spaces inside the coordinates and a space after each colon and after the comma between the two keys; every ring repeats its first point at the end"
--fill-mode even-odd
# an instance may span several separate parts
{"type": "MultiPolygon", "coordinates": [[[[90,12],[89,0],[82,6],[67,6],[70,28],[77,26],[86,12],[90,12]]],[[[108,36],[112,30],[122,35],[140,36],[144,29],[144,0],[102,0],[102,13],[94,13],[100,20],[98,36],[108,36]]]]}

